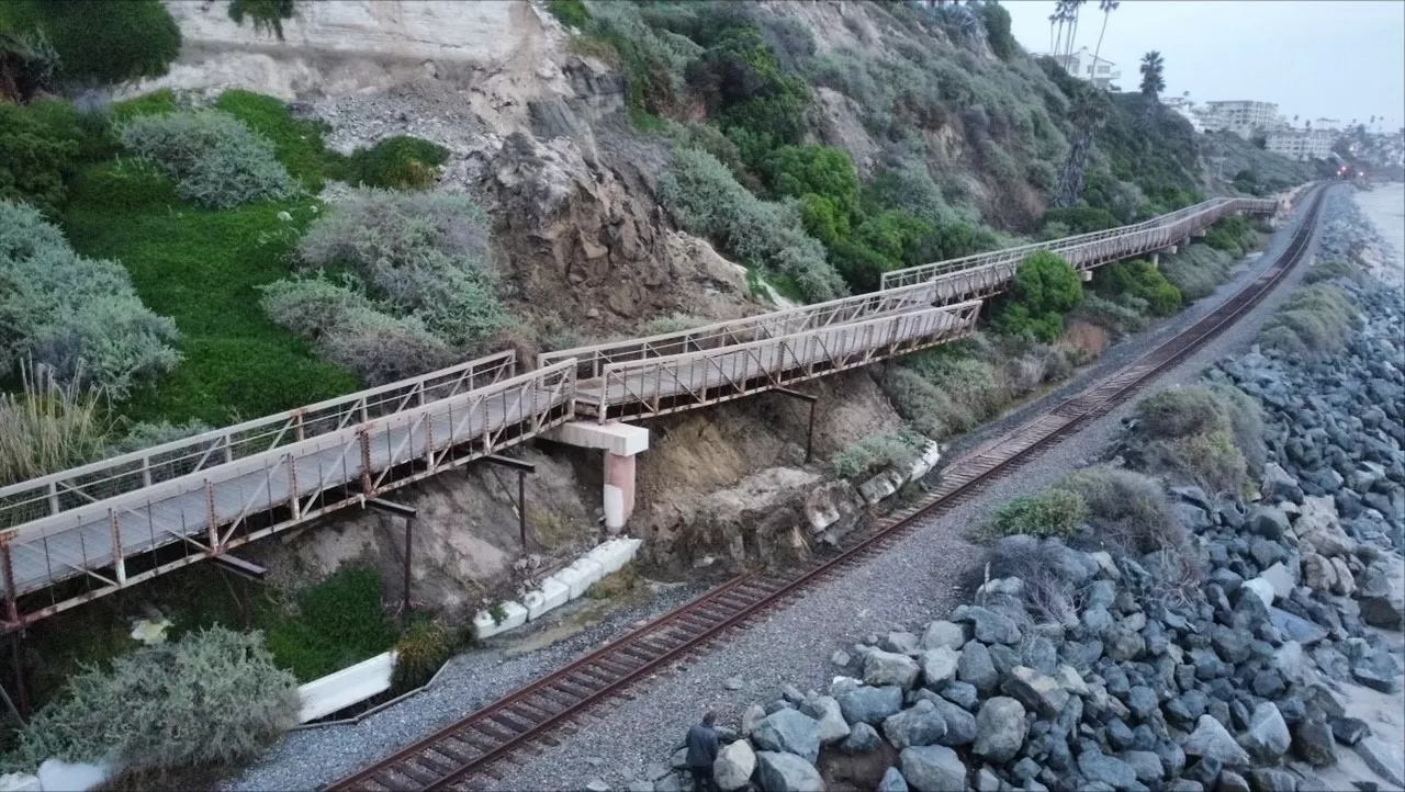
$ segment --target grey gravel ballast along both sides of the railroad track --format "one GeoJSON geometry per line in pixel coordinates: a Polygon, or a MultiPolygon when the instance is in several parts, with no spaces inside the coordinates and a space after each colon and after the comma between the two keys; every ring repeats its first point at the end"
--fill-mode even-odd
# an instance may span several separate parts
{"type": "MultiPolygon", "coordinates": [[[[1293,227],[1294,223],[1288,223],[1288,227],[1274,233],[1264,254],[1214,296],[1113,347],[1073,382],[962,438],[953,452],[1007,431],[1051,402],[1086,388],[1090,381],[1125,365],[1196,322],[1262,271],[1286,247],[1293,227]]],[[[1283,302],[1302,270],[1298,267],[1235,327],[1176,369],[1161,375],[1151,388],[1193,382],[1218,357],[1252,344],[1259,326],[1283,302]]],[[[884,556],[853,569],[843,579],[812,587],[795,605],[773,612],[695,664],[642,685],[635,701],[620,699],[613,708],[593,711],[593,718],[587,716],[586,726],[576,734],[554,734],[561,741],[559,747],[535,757],[520,755],[516,761],[521,764],[509,765],[502,781],[490,782],[488,788],[570,789],[583,788],[599,777],[622,789],[649,763],[667,755],[680,737],[674,733],[680,722],[694,720],[710,708],[717,709],[724,722],[735,720],[749,702],[774,691],[783,681],[802,688],[828,687],[833,668],[823,659],[835,649],[849,647],[871,632],[917,626],[930,618],[929,614],[955,605],[962,593],[957,581],[974,570],[984,553],[965,539],[968,529],[979,524],[993,506],[1033,493],[1096,456],[1116,437],[1120,420],[1128,413],[1130,406],[1121,406],[1093,421],[1038,462],[1021,469],[1016,477],[998,482],[972,503],[920,525],[884,556]],[[736,675],[743,681],[740,689],[726,689],[724,682],[736,675]]],[[[639,619],[672,609],[704,588],[669,590],[645,605],[621,611],[538,652],[516,657],[478,652],[457,657],[430,689],[361,723],[288,734],[263,763],[225,788],[325,786],[622,635],[639,619]]]]}

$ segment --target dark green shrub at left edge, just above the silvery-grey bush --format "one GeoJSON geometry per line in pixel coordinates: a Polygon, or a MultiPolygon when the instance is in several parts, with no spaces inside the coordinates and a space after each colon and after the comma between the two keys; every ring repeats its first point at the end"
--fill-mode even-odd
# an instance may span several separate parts
{"type": "Polygon", "coordinates": [[[0,201],[56,216],[77,154],[77,145],[56,139],[31,111],[0,101],[0,201]]]}

